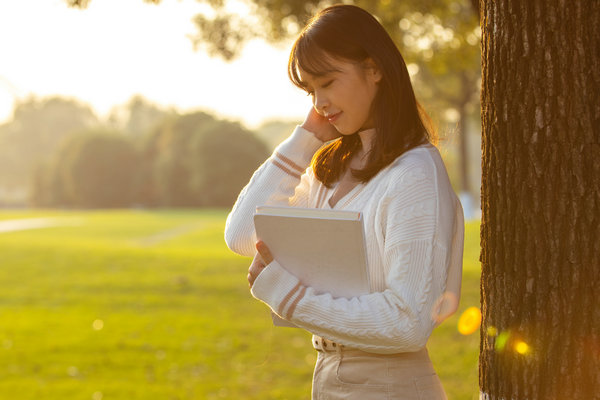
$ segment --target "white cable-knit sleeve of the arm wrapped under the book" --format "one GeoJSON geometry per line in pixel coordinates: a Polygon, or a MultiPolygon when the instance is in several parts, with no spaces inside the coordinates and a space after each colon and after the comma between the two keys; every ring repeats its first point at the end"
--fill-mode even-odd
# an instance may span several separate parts
{"type": "Polygon", "coordinates": [[[411,166],[380,201],[386,289],[333,298],[304,286],[275,260],[258,276],[252,294],[281,317],[328,339],[374,353],[417,351],[444,290],[447,250],[435,244],[439,194],[435,171],[411,166]]]}

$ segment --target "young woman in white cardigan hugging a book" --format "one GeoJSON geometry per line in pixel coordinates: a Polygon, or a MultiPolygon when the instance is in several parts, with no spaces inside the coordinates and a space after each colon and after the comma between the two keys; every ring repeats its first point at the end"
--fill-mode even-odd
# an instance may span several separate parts
{"type": "Polygon", "coordinates": [[[463,214],[404,60],[373,16],[337,5],[288,72],[313,108],[240,193],[227,244],[254,256],[253,296],[313,333],[313,399],[444,399],[425,344],[458,305],[463,214]],[[371,293],[334,298],[287,272],[256,241],[263,204],[361,211],[371,293]]]}

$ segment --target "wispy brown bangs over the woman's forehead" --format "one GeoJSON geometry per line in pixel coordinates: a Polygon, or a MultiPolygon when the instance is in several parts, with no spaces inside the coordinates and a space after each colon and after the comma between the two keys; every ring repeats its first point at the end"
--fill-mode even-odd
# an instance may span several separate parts
{"type": "Polygon", "coordinates": [[[288,62],[288,76],[294,85],[300,89],[306,89],[306,83],[300,78],[300,70],[313,76],[339,72],[331,61],[333,61],[333,57],[327,51],[307,35],[302,35],[292,47],[288,62]]]}

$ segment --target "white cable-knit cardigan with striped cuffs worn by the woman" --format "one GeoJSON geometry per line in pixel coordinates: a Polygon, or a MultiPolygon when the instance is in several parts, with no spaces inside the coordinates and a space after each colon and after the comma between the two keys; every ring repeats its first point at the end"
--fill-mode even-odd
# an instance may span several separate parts
{"type": "MultiPolygon", "coordinates": [[[[254,173],[227,218],[231,250],[255,255],[258,205],[330,208],[335,186],[321,184],[309,168],[322,145],[297,127],[254,173]]],[[[371,293],[350,299],[316,293],[275,260],[252,294],[281,317],[346,346],[374,353],[421,349],[436,325],[436,302],[446,290],[460,296],[462,275],[462,208],[437,148],[406,152],[334,209],[363,213],[371,293]]]]}

